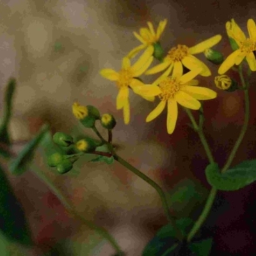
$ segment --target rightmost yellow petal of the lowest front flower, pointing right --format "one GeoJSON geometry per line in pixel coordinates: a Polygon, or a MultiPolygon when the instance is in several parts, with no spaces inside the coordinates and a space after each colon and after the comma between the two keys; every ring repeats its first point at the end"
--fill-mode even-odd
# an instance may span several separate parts
{"type": "Polygon", "coordinates": [[[200,86],[185,85],[180,88],[182,92],[185,92],[197,100],[211,100],[216,98],[217,93],[213,90],[200,86]]]}

